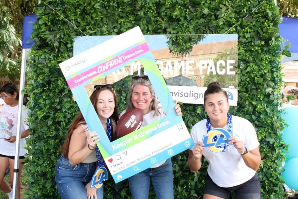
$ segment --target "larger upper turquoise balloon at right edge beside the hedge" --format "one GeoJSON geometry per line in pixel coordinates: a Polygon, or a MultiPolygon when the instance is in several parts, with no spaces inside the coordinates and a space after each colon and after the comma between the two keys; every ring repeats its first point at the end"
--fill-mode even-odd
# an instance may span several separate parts
{"type": "Polygon", "coordinates": [[[290,160],[291,158],[298,158],[298,106],[285,108],[284,112],[281,115],[288,127],[283,129],[282,138],[285,144],[290,145],[288,151],[285,152],[287,159],[290,160]]]}

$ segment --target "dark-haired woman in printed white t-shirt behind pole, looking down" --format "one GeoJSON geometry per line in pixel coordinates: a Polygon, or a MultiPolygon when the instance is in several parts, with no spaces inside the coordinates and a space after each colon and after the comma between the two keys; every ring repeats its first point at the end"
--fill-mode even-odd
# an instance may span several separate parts
{"type": "MultiPolygon", "coordinates": [[[[12,84],[5,84],[0,90],[1,96],[5,102],[2,107],[0,114],[0,189],[5,192],[9,198],[12,198],[13,192],[9,184],[3,179],[5,171],[10,167],[10,183],[13,184],[13,168],[15,160],[15,141],[17,135],[17,122],[18,122],[18,88],[12,84]]],[[[24,164],[25,153],[27,150],[24,149],[26,144],[25,138],[29,135],[29,127],[26,124],[27,109],[23,107],[21,117],[21,139],[20,139],[20,152],[19,152],[19,174],[22,173],[24,164]]],[[[20,198],[21,189],[21,175],[18,175],[18,183],[16,192],[16,198],[20,198]]]]}

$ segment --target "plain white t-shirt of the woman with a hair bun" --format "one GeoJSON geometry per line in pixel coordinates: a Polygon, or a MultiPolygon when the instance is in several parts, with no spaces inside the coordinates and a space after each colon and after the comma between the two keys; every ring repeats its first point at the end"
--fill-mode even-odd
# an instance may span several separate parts
{"type": "MultiPolygon", "coordinates": [[[[206,122],[206,119],[199,121],[191,129],[191,137],[195,144],[202,141],[203,136],[207,134],[206,122]]],[[[232,125],[232,136],[241,138],[248,151],[260,145],[256,131],[248,120],[232,115],[232,125]]],[[[211,127],[211,129],[213,128],[211,127]]],[[[228,129],[227,125],[224,128],[228,129]]],[[[193,150],[193,147],[190,150],[193,150]]],[[[205,148],[203,155],[209,162],[207,172],[210,178],[220,187],[240,185],[251,179],[256,173],[246,166],[241,155],[232,144],[227,146],[225,152],[212,152],[205,148]]]]}

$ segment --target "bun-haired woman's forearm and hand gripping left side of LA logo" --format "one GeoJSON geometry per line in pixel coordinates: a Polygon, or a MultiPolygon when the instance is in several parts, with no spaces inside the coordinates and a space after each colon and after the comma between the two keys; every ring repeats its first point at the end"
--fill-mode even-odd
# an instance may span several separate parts
{"type": "Polygon", "coordinates": [[[189,150],[187,163],[192,172],[201,169],[202,155],[204,153],[204,148],[202,147],[202,145],[204,146],[204,144],[201,141],[199,141],[193,147],[193,151],[189,150]]]}

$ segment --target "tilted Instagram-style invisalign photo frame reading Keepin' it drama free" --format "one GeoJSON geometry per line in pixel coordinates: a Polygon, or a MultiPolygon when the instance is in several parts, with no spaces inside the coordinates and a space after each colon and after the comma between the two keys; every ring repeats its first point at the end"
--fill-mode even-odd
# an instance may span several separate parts
{"type": "Polygon", "coordinates": [[[194,145],[181,116],[174,111],[174,100],[139,27],[85,49],[59,66],[89,129],[100,135],[97,146],[116,183],[194,145]],[[110,142],[86,85],[107,79],[109,74],[117,76],[113,75],[116,71],[136,61],[144,66],[167,116],[110,142]]]}

